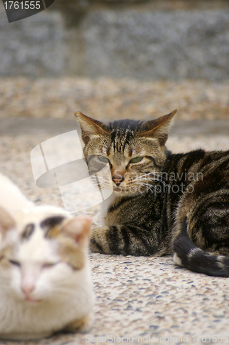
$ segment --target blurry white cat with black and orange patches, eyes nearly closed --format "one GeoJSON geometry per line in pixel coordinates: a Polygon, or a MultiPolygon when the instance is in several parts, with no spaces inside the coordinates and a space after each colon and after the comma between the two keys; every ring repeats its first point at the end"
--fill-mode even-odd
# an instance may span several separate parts
{"type": "Polygon", "coordinates": [[[0,174],[0,339],[92,326],[91,220],[35,206],[0,174]]]}

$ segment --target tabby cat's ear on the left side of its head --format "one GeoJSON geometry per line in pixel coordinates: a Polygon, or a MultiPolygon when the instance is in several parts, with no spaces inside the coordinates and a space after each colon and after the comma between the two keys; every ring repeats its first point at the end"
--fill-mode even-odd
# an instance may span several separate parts
{"type": "Polygon", "coordinates": [[[109,134],[109,132],[104,129],[104,125],[102,122],[91,119],[90,117],[83,115],[81,112],[74,112],[74,116],[79,121],[84,144],[88,143],[88,140],[90,139],[90,137],[92,137],[92,135],[109,134]]]}

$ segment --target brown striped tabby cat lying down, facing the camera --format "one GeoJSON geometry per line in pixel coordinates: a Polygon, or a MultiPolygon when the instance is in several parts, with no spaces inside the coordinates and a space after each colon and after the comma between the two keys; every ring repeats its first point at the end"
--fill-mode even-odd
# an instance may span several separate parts
{"type": "Polygon", "coordinates": [[[172,154],[168,129],[177,110],[151,121],[79,121],[90,175],[113,193],[94,252],[169,255],[199,273],[229,276],[229,150],[172,154]]]}

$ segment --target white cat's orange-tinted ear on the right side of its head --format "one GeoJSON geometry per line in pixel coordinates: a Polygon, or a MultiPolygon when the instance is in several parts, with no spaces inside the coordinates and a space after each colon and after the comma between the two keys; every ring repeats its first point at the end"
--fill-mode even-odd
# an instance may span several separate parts
{"type": "Polygon", "coordinates": [[[92,219],[90,217],[74,217],[63,224],[61,231],[75,239],[79,246],[86,246],[89,242],[92,219]]]}

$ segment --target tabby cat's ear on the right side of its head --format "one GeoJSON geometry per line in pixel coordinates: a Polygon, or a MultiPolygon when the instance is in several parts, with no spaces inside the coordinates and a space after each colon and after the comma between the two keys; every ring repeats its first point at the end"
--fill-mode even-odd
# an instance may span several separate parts
{"type": "Polygon", "coordinates": [[[166,144],[168,139],[168,130],[171,126],[172,118],[176,114],[177,109],[170,114],[159,117],[159,119],[147,121],[146,125],[148,130],[143,130],[143,132],[139,133],[139,136],[144,137],[155,137],[159,140],[159,144],[163,145],[166,144]]]}

